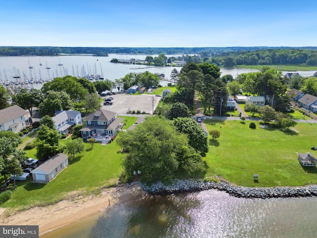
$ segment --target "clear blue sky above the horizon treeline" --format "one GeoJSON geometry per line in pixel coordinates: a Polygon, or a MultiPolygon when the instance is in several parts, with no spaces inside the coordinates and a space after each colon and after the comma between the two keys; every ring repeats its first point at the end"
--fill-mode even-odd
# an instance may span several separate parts
{"type": "Polygon", "coordinates": [[[0,46],[317,46],[316,0],[6,0],[0,46]]]}

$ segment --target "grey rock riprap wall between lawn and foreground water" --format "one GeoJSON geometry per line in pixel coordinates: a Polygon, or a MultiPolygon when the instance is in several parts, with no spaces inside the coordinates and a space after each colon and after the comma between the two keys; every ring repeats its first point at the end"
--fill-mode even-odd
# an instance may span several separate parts
{"type": "Polygon", "coordinates": [[[174,180],[171,185],[157,182],[152,186],[140,183],[140,186],[154,195],[168,195],[184,192],[196,192],[208,189],[225,191],[235,197],[243,198],[287,198],[317,196],[317,185],[305,187],[242,187],[228,182],[200,181],[196,179],[174,180]]]}

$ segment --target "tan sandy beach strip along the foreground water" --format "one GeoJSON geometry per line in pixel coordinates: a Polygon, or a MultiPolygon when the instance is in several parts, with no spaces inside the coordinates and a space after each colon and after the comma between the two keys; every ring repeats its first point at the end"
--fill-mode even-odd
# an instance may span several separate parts
{"type": "MultiPolygon", "coordinates": [[[[46,207],[33,207],[11,216],[0,215],[1,225],[39,225],[39,233],[45,234],[88,216],[104,212],[116,202],[124,202],[143,189],[138,185],[124,185],[102,190],[98,195],[72,197],[46,207]]],[[[144,192],[145,193],[145,192],[144,192]]]]}

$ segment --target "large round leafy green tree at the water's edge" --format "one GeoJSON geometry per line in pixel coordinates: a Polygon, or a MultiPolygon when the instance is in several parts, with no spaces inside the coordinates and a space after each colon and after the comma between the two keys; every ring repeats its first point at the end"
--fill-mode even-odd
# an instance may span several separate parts
{"type": "Polygon", "coordinates": [[[140,181],[146,183],[171,181],[178,170],[188,175],[206,173],[201,155],[188,145],[187,136],[159,116],[146,117],[118,137],[117,143],[127,152],[122,165],[129,178],[138,170],[140,181]]]}

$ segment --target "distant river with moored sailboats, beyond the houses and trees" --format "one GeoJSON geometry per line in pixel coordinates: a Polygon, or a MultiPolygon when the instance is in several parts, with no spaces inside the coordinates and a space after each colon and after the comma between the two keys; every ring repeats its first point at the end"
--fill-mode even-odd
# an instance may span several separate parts
{"type": "MultiPolygon", "coordinates": [[[[153,57],[156,57],[154,55],[153,57]]],[[[147,67],[147,65],[111,63],[113,58],[129,60],[131,58],[145,60],[145,55],[117,55],[110,54],[109,57],[94,56],[46,56],[46,57],[0,57],[0,81],[15,81],[13,78],[20,75],[20,80],[43,79],[49,80],[54,77],[65,75],[83,76],[91,74],[103,74],[105,78],[114,81],[124,77],[130,72],[164,73],[165,78],[170,78],[170,73],[174,67],[147,67]],[[40,65],[42,63],[42,65],[40,65]],[[62,65],[58,65],[62,64],[62,65]],[[30,69],[29,66],[33,68],[30,69]],[[46,69],[50,67],[50,69],[46,69]],[[136,69],[138,68],[138,69],[136,69]]],[[[167,55],[169,57],[169,55],[167,55]]],[[[180,71],[181,67],[175,67],[180,71]]],[[[247,68],[221,68],[221,75],[231,74],[234,78],[237,74],[255,72],[258,70],[247,68]]],[[[302,76],[311,76],[315,71],[297,71],[302,76]]],[[[286,72],[283,72],[285,74],[286,72]]],[[[167,81],[161,81],[162,86],[167,86],[167,81]]],[[[34,88],[41,88],[42,84],[29,85],[34,88]]]]}

